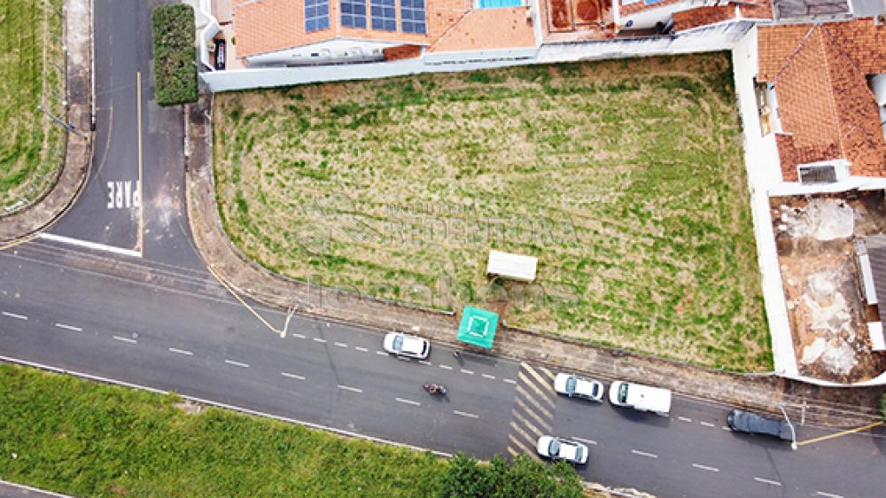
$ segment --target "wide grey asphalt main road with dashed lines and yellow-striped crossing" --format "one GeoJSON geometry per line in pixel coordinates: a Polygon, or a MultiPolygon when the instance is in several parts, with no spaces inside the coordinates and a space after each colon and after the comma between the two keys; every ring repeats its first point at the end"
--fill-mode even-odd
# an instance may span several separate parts
{"type": "Polygon", "coordinates": [[[119,262],[45,243],[0,253],[0,354],[447,453],[531,451],[553,432],[587,441],[586,479],[659,496],[882,496],[882,433],[794,452],[727,432],[726,407],[677,397],[670,418],[643,416],[558,397],[538,366],[459,364],[444,347],[401,361],[379,352],[378,332],[299,316],[279,338],[197,272],[111,272],[119,262]],[[427,396],[431,380],[450,395],[427,396]]]}

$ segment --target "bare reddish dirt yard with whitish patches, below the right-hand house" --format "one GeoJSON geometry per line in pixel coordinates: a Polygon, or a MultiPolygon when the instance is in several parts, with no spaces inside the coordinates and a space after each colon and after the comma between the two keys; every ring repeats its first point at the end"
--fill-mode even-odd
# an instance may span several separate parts
{"type": "Polygon", "coordinates": [[[886,228],[883,192],[772,198],[771,207],[801,374],[843,383],[881,374],[852,242],[886,228]]]}

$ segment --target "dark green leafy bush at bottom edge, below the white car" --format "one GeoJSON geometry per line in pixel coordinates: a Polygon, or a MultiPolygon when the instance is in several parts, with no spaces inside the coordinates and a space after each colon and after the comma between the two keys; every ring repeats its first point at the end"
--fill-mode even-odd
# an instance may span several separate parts
{"type": "Polygon", "coordinates": [[[540,463],[525,455],[517,455],[514,463],[494,456],[489,464],[462,454],[449,461],[441,476],[440,498],[579,498],[584,488],[569,463],[540,463]]]}

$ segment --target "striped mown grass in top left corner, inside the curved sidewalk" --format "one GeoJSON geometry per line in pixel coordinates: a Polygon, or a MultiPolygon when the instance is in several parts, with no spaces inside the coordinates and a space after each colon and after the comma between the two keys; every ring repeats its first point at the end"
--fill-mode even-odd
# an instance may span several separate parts
{"type": "Polygon", "coordinates": [[[61,170],[65,119],[61,0],[0,2],[0,214],[40,198],[61,170]]]}

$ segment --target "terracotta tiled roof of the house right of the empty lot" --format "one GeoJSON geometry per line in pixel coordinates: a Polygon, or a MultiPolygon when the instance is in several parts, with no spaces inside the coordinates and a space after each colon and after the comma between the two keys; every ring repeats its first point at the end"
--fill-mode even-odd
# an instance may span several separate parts
{"type": "Polygon", "coordinates": [[[758,80],[772,82],[782,176],[797,164],[849,160],[852,175],[886,176],[886,141],[867,74],[886,73],[886,28],[872,19],[758,27],[758,80]]]}

